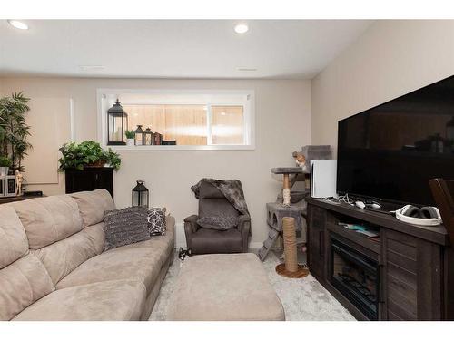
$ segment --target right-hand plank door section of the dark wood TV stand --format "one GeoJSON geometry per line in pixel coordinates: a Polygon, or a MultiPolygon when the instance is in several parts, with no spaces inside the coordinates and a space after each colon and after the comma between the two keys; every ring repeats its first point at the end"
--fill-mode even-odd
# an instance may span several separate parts
{"type": "Polygon", "coordinates": [[[384,229],[381,232],[388,320],[441,318],[441,248],[429,241],[384,229]]]}

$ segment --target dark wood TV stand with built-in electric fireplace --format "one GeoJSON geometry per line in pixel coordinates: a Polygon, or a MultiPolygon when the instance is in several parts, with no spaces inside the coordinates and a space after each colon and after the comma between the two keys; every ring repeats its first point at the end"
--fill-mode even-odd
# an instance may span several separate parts
{"type": "Polygon", "coordinates": [[[346,203],[308,199],[308,264],[321,285],[360,320],[454,320],[454,250],[443,226],[420,227],[346,203]],[[380,237],[368,238],[339,222],[375,228],[380,237]],[[377,265],[371,275],[378,282],[372,287],[378,296],[372,317],[333,278],[340,266],[338,241],[352,249],[350,254],[369,258],[370,267],[377,265]]]}

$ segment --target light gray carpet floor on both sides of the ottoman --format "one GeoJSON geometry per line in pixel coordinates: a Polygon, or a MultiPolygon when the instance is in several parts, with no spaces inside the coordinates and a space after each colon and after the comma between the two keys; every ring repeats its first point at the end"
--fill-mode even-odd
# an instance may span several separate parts
{"type": "MultiPolygon", "coordinates": [[[[263,267],[270,278],[271,285],[281,298],[285,310],[285,318],[288,321],[347,321],[355,320],[349,311],[331,296],[321,284],[311,275],[303,278],[281,277],[275,272],[275,267],[280,259],[270,252],[263,267]]],[[[182,261],[176,257],[170,267],[163,286],[153,307],[151,321],[166,319],[166,310],[169,306],[173,288],[182,261]]]]}

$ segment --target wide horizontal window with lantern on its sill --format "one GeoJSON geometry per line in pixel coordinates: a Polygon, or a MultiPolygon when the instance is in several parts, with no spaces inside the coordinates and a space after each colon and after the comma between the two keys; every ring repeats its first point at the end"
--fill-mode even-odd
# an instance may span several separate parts
{"type": "Polygon", "coordinates": [[[118,98],[127,113],[127,128],[149,128],[161,145],[115,145],[118,151],[251,150],[252,91],[98,90],[98,138],[107,144],[107,110],[118,98]]]}

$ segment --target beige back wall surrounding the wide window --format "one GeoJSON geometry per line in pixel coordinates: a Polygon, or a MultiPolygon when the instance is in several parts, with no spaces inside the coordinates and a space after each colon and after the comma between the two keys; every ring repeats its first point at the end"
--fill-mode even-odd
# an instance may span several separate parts
{"type": "MultiPolygon", "coordinates": [[[[122,168],[114,175],[119,207],[130,204],[135,180],[145,180],[151,189],[151,204],[168,207],[177,222],[197,211],[190,186],[202,177],[242,180],[254,242],[266,238],[265,203],[274,201],[281,187],[271,177],[271,168],[292,165],[291,152],[311,143],[310,81],[10,78],[4,79],[4,87],[5,92],[24,91],[32,104],[33,99],[43,97],[73,98],[77,141],[96,138],[97,88],[254,90],[254,151],[123,151],[122,168]]],[[[31,189],[62,193],[63,181],[31,189]]]]}

